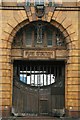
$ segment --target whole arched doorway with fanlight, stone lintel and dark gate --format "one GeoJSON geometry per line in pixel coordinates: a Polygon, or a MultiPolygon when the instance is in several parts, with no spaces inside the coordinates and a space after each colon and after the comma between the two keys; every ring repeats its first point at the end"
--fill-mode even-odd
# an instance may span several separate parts
{"type": "Polygon", "coordinates": [[[66,42],[50,23],[25,25],[12,44],[13,110],[16,115],[63,115],[66,42]]]}

